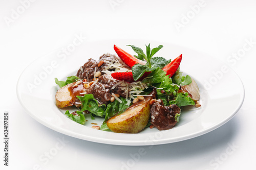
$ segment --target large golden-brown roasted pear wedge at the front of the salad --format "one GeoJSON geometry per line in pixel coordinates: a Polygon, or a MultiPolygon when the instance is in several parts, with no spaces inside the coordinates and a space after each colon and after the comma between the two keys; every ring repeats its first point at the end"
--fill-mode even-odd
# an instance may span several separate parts
{"type": "Polygon", "coordinates": [[[111,131],[117,133],[138,133],[150,119],[150,101],[153,96],[147,96],[127,108],[123,113],[111,117],[106,125],[111,131]]]}

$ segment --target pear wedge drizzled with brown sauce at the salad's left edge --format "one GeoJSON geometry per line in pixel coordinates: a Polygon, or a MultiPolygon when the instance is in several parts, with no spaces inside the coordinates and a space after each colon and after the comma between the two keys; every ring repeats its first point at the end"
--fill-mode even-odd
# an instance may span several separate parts
{"type": "Polygon", "coordinates": [[[81,95],[80,93],[84,93],[86,89],[83,87],[82,83],[77,82],[73,82],[66,86],[63,86],[56,92],[55,103],[58,108],[73,105],[79,107],[81,105],[80,101],[76,98],[76,95],[81,95]]]}

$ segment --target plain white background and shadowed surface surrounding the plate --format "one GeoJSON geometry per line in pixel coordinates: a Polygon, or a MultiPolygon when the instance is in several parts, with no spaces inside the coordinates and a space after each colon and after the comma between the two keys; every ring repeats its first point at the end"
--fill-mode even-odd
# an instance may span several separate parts
{"type": "MultiPolygon", "coordinates": [[[[1,0],[0,108],[1,115],[10,115],[9,166],[3,165],[1,139],[1,169],[251,169],[256,158],[255,7],[252,0],[1,0]],[[175,26],[178,22],[181,28],[175,26]],[[153,148],[100,144],[55,132],[25,112],[16,97],[16,82],[33,60],[66,47],[75,34],[87,41],[163,40],[210,54],[237,72],[245,87],[244,104],[228,123],[210,133],[153,148]],[[229,56],[241,52],[247,40],[251,48],[230,62],[229,56]],[[59,139],[68,142],[51,159],[40,160],[59,139]],[[145,154],[136,157],[141,148],[145,154]]],[[[2,136],[3,115],[1,129],[2,136]]]]}

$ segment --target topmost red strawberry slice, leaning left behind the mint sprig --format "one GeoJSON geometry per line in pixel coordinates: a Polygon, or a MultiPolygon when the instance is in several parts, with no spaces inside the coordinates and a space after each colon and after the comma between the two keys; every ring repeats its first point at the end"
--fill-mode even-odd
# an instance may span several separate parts
{"type": "Polygon", "coordinates": [[[116,51],[116,54],[118,55],[118,57],[120,57],[120,59],[122,59],[122,61],[125,64],[127,64],[130,68],[132,68],[136,63],[140,63],[142,65],[146,64],[145,61],[137,59],[136,57],[134,57],[133,55],[123,51],[121,48],[119,48],[116,45],[114,45],[114,50],[116,51]]]}

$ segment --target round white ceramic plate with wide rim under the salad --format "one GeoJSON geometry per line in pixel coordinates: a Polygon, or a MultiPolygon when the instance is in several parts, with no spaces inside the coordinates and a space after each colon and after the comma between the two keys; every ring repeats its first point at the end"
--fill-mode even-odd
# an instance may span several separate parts
{"type": "MultiPolygon", "coordinates": [[[[67,46],[40,57],[30,64],[17,83],[17,96],[25,110],[39,123],[66,135],[76,138],[117,145],[151,145],[177,142],[210,132],[224,123],[241,107],[244,100],[244,87],[240,78],[224,63],[205,54],[188,48],[165,42],[151,41],[151,46],[162,44],[164,47],[156,56],[174,59],[183,54],[181,71],[196,80],[201,91],[201,107],[182,108],[180,122],[170,130],[158,131],[147,128],[138,134],[120,134],[92,129],[91,123],[99,126],[103,118],[91,120],[86,117],[86,125],[80,125],[63,113],[67,109],[58,109],[55,105],[55,93],[58,86],[54,78],[66,80],[89,58],[98,60],[104,53],[115,54],[113,44],[134,54],[133,44],[145,47],[147,41],[105,40],[83,42],[79,46],[67,46]]],[[[76,110],[73,107],[69,110],[76,110]]]]}

